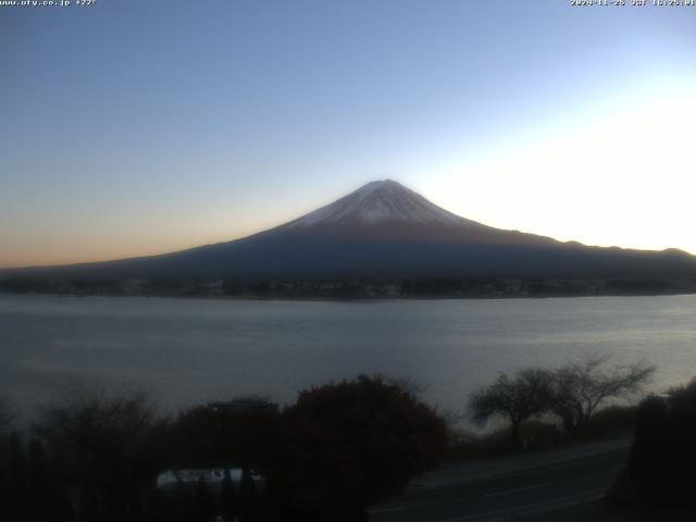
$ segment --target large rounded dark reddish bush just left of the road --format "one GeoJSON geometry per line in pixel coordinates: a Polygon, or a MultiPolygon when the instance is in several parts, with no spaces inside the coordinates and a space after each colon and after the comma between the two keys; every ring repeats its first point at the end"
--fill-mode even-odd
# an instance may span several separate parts
{"type": "Polygon", "coordinates": [[[304,520],[361,520],[447,447],[436,411],[380,376],[302,391],[285,417],[290,450],[277,474],[287,507],[304,520]]]}

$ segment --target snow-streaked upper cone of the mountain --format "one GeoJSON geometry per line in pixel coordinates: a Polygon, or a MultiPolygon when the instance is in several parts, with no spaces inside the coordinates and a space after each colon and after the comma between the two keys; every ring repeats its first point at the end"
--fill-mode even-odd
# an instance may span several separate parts
{"type": "Polygon", "coordinates": [[[385,224],[484,226],[431,203],[420,194],[391,179],[368,183],[348,196],[291,221],[286,226],[306,228],[385,224]]]}

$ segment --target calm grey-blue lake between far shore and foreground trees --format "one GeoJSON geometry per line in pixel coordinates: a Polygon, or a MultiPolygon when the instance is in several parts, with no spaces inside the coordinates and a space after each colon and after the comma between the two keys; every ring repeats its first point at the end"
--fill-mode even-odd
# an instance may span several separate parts
{"type": "Polygon", "coordinates": [[[23,411],[75,390],[142,389],[162,408],[409,377],[458,410],[499,371],[588,353],[696,375],[696,296],[263,301],[0,295],[0,396],[23,411]]]}

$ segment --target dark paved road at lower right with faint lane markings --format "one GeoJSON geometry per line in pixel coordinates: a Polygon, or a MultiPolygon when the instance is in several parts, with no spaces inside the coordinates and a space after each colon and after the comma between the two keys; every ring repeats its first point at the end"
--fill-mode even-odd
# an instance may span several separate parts
{"type": "Polygon", "coordinates": [[[407,490],[370,510],[370,521],[614,520],[599,500],[627,456],[629,449],[621,448],[500,477],[407,490]]]}

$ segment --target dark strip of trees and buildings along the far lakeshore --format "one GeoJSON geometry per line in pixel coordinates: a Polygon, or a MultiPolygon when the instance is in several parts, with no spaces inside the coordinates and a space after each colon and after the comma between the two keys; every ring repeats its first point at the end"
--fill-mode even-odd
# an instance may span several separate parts
{"type": "Polygon", "coordinates": [[[64,296],[276,299],[513,298],[696,294],[696,278],[376,277],[47,278],[0,277],[0,291],[64,296]]]}

